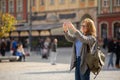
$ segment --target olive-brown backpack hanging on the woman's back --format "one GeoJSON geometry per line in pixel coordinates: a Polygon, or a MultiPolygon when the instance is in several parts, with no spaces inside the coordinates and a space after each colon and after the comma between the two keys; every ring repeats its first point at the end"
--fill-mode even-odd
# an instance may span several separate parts
{"type": "Polygon", "coordinates": [[[97,41],[93,44],[93,47],[91,49],[87,44],[87,50],[88,53],[86,56],[87,57],[86,62],[90,71],[95,75],[94,77],[95,79],[96,76],[101,71],[103,65],[105,64],[105,55],[98,47],[97,41]]]}

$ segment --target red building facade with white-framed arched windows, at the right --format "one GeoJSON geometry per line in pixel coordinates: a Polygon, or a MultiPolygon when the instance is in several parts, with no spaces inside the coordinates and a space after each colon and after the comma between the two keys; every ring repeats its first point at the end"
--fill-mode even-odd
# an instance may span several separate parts
{"type": "Polygon", "coordinates": [[[98,39],[120,39],[120,0],[98,0],[98,39]]]}

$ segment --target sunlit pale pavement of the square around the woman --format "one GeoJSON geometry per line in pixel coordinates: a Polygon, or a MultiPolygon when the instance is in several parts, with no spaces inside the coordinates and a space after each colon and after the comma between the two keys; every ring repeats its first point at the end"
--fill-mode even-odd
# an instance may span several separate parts
{"type": "MultiPolygon", "coordinates": [[[[31,54],[26,62],[1,62],[0,80],[74,80],[74,70],[69,72],[71,48],[59,49],[57,65],[42,60],[39,54],[31,54]]],[[[107,69],[106,64],[96,80],[120,80],[120,69],[107,69]]],[[[115,60],[115,58],[114,58],[115,60]]],[[[91,73],[91,80],[94,75],[91,73]]]]}

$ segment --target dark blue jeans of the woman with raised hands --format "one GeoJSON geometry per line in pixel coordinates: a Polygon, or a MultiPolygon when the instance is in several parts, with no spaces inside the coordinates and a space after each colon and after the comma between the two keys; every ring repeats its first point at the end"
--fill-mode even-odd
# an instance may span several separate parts
{"type": "Polygon", "coordinates": [[[75,69],[75,80],[90,80],[90,70],[88,69],[85,74],[81,74],[80,71],[80,57],[77,58],[75,69]]]}

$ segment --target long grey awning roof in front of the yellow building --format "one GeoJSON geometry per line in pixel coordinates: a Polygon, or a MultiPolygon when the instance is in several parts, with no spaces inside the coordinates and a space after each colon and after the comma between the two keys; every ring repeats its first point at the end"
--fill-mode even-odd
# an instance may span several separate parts
{"type": "MultiPolygon", "coordinates": [[[[62,24],[40,24],[40,25],[32,25],[32,30],[50,30],[53,28],[59,28],[62,27],[62,24]]],[[[16,31],[28,31],[30,29],[30,26],[21,26],[17,27],[16,31]]]]}

